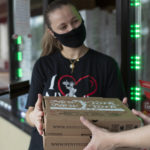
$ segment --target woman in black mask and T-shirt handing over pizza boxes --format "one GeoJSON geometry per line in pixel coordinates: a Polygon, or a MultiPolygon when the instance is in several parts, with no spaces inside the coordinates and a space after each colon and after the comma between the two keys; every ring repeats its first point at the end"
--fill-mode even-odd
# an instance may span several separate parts
{"type": "Polygon", "coordinates": [[[121,100],[125,95],[116,62],[83,44],[84,20],[70,2],[53,1],[45,12],[45,22],[42,57],[34,66],[26,105],[27,122],[35,127],[29,150],[43,150],[42,95],[121,100]]]}

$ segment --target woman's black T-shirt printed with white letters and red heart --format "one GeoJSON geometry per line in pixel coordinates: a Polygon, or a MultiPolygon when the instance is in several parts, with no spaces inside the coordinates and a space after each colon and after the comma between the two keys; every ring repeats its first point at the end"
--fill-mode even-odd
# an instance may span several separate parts
{"type": "MultiPolygon", "coordinates": [[[[125,96],[117,63],[109,56],[92,49],[75,63],[72,73],[70,60],[60,52],[37,60],[32,73],[26,108],[35,106],[37,94],[43,96],[107,97],[125,96]]],[[[34,129],[30,150],[43,150],[42,137],[34,129]]]]}

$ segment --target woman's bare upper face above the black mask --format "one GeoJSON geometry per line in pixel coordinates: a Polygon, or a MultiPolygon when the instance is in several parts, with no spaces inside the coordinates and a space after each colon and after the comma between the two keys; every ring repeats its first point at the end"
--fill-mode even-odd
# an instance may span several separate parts
{"type": "Polygon", "coordinates": [[[56,9],[49,15],[51,28],[58,34],[64,34],[80,26],[82,19],[77,10],[66,5],[56,9]]]}

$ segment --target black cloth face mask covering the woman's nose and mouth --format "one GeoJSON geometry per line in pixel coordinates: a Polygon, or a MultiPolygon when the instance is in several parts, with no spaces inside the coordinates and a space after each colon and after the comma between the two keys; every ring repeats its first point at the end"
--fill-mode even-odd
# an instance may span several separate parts
{"type": "Polygon", "coordinates": [[[53,31],[55,37],[67,47],[77,48],[81,46],[86,37],[86,30],[84,26],[84,21],[78,28],[75,28],[68,33],[58,34],[53,31]]]}

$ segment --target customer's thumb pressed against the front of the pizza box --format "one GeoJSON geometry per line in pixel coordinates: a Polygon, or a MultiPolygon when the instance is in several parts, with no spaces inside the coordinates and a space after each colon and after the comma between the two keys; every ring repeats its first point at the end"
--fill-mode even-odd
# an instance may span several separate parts
{"type": "Polygon", "coordinates": [[[89,128],[89,130],[93,133],[95,129],[97,128],[95,125],[93,125],[91,122],[89,122],[87,119],[85,119],[83,116],[80,117],[80,121],[84,126],[89,128]]]}

